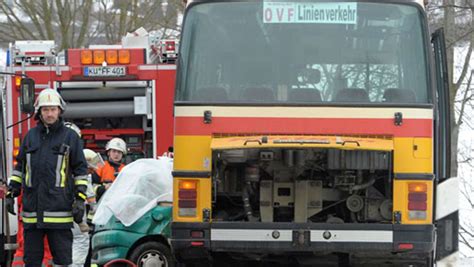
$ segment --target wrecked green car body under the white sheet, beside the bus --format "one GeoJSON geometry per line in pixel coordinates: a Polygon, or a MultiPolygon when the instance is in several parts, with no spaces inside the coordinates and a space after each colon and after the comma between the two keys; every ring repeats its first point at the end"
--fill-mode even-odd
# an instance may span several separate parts
{"type": "Polygon", "coordinates": [[[174,266],[168,238],[171,234],[171,204],[161,203],[138,221],[124,226],[115,217],[96,226],[92,236],[92,260],[104,265],[116,259],[128,259],[139,267],[174,266]]]}

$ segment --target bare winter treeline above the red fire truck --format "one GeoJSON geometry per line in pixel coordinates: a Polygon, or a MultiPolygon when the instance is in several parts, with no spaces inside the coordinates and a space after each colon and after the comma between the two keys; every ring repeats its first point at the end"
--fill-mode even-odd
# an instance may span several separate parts
{"type": "Polygon", "coordinates": [[[55,40],[62,50],[114,44],[140,27],[177,33],[183,8],[180,0],[0,1],[0,42],[55,40]]]}

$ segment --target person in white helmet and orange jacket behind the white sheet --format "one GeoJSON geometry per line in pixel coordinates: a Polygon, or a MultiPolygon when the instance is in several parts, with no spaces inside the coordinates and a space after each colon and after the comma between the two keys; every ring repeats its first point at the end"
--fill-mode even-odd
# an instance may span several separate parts
{"type": "Polygon", "coordinates": [[[105,190],[109,188],[110,184],[117,178],[119,172],[125,167],[122,161],[124,156],[127,155],[127,144],[123,139],[115,137],[107,142],[105,151],[107,152],[107,161],[102,168],[99,168],[92,175],[93,183],[97,184],[97,200],[102,197],[105,190]]]}

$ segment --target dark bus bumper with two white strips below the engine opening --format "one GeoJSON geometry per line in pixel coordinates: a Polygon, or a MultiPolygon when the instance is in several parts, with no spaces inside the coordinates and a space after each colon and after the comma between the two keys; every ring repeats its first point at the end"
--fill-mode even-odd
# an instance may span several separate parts
{"type": "Polygon", "coordinates": [[[434,225],[175,222],[171,228],[171,244],[180,259],[213,252],[424,254],[435,244],[434,225]]]}

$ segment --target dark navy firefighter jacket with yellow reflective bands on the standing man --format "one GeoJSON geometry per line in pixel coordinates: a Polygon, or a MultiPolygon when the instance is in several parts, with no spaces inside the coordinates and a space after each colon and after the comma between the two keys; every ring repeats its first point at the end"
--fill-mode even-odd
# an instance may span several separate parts
{"type": "Polygon", "coordinates": [[[25,229],[70,229],[75,198],[86,199],[87,162],[79,136],[60,118],[28,131],[10,179],[23,189],[21,212],[25,229]]]}

